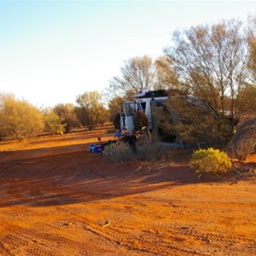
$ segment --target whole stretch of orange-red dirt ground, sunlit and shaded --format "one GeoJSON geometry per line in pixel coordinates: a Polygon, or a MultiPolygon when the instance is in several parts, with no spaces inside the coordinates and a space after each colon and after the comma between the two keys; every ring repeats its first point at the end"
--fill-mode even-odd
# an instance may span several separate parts
{"type": "Polygon", "coordinates": [[[0,143],[0,255],[256,255],[255,177],[112,163],[98,136],[0,143]]]}

